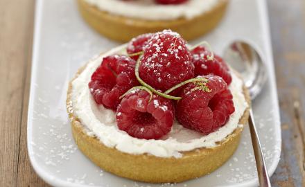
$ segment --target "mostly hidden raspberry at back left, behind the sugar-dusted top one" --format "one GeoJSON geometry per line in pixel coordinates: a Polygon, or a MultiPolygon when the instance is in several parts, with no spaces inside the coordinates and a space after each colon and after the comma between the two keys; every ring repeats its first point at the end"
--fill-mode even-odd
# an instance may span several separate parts
{"type": "MultiPolygon", "coordinates": [[[[143,34],[132,38],[132,40],[128,43],[127,53],[133,54],[143,51],[144,46],[148,44],[151,37],[153,37],[153,33],[143,34]]],[[[133,60],[138,60],[139,55],[132,56],[131,58],[133,60]]]]}

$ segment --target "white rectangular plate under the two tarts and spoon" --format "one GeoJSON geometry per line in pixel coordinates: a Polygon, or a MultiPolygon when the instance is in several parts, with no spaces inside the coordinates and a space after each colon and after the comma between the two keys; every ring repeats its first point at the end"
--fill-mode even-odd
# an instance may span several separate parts
{"type": "MultiPolygon", "coordinates": [[[[244,39],[263,55],[268,82],[253,107],[271,175],[279,162],[281,129],[265,1],[231,0],[220,26],[198,41],[203,39],[219,54],[234,39],[244,39]]],[[[37,1],[28,154],[38,175],[53,186],[257,186],[248,128],[243,132],[238,150],[224,166],[210,175],[181,184],[144,184],[116,177],[103,172],[78,150],[65,109],[68,82],[87,60],[117,45],[82,21],[76,1],[37,1]]]]}

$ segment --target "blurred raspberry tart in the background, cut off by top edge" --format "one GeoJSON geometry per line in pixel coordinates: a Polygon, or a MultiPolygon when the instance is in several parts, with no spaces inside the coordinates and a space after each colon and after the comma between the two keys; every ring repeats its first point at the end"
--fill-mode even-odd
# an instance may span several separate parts
{"type": "Polygon", "coordinates": [[[229,0],[77,0],[80,14],[98,33],[128,42],[171,28],[195,39],[215,28],[229,0]],[[122,32],[123,31],[123,32],[122,32]]]}

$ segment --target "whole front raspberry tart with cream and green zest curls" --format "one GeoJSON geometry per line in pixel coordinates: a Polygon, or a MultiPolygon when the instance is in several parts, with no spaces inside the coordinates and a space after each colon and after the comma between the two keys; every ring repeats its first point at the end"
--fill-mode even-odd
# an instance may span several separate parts
{"type": "Polygon", "coordinates": [[[80,68],[67,112],[78,148],[115,175],[152,183],[213,172],[247,122],[243,80],[209,45],[140,35],[80,68]]]}

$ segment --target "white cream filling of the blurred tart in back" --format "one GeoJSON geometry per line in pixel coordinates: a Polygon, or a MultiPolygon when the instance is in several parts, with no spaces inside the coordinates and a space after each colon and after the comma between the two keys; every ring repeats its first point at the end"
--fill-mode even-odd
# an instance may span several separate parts
{"type": "Polygon", "coordinates": [[[154,0],[85,0],[98,9],[114,15],[147,20],[192,19],[211,10],[219,1],[225,0],[189,0],[178,5],[161,5],[154,0]]]}

